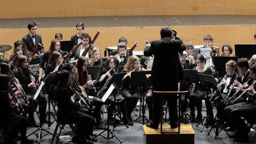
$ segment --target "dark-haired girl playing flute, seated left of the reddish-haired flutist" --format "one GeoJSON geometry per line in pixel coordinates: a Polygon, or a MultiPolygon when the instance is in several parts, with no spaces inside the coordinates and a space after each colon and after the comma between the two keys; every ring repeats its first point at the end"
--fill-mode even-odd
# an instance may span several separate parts
{"type": "MultiPolygon", "coordinates": [[[[100,86],[100,88],[102,88],[104,86],[106,80],[109,77],[111,77],[111,75],[116,73],[116,71],[113,67],[114,67],[113,58],[111,58],[109,56],[104,57],[102,59],[102,64],[99,67],[99,73],[97,75],[95,85],[100,86]],[[111,70],[111,68],[113,68],[113,69],[111,70]],[[111,70],[111,71],[109,71],[109,70],[111,70]]],[[[99,98],[102,98],[105,92],[106,91],[104,91],[104,90],[100,90],[99,98]]],[[[110,113],[111,113],[111,120],[113,120],[112,116],[113,116],[113,111],[115,109],[114,104],[113,104],[113,102],[114,102],[114,95],[113,94],[111,94],[109,96],[108,101],[111,103],[109,109],[110,109],[110,113]]],[[[122,95],[116,95],[116,104],[120,105],[120,110],[121,110],[121,112],[123,114],[123,117],[124,117],[123,118],[123,123],[125,125],[129,124],[129,120],[128,120],[128,117],[127,117],[126,103],[125,103],[125,99],[124,99],[124,97],[122,97],[122,95]]],[[[115,120],[115,121],[118,122],[118,120],[115,120]]]]}

